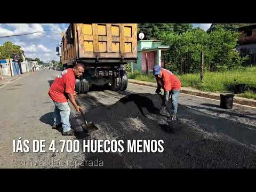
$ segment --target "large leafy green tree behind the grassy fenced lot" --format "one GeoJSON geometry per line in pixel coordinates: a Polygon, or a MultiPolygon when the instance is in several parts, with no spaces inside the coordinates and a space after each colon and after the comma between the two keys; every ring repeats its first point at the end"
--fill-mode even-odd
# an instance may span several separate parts
{"type": "Polygon", "coordinates": [[[170,49],[163,55],[167,67],[177,73],[186,62],[188,73],[199,72],[202,51],[205,53],[205,70],[223,71],[240,66],[246,58],[240,58],[234,50],[238,33],[217,26],[211,33],[195,28],[182,34],[162,33],[163,44],[170,49]]]}

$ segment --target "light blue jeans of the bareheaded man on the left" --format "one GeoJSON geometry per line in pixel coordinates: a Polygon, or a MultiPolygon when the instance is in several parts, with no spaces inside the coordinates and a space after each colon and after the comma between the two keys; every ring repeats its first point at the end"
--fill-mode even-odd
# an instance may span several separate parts
{"type": "Polygon", "coordinates": [[[54,125],[59,125],[62,123],[63,132],[69,131],[71,127],[69,123],[70,107],[68,102],[53,102],[55,105],[54,125]]]}

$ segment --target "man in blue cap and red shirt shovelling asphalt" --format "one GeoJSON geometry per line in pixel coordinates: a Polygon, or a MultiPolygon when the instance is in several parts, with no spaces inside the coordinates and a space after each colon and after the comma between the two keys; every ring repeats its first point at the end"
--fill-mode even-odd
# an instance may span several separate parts
{"type": "Polygon", "coordinates": [[[167,102],[169,101],[170,95],[172,95],[172,110],[171,115],[174,121],[177,120],[177,110],[179,102],[179,93],[181,83],[177,76],[167,69],[162,69],[161,66],[157,65],[153,69],[156,77],[157,89],[156,93],[161,92],[161,87],[164,90],[164,102],[163,108],[166,108],[167,102]]]}

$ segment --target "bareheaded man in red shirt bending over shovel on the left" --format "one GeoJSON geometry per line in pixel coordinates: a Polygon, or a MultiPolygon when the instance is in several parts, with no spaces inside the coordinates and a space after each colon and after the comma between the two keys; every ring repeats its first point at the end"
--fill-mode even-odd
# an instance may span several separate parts
{"type": "Polygon", "coordinates": [[[70,100],[76,111],[82,110],[77,105],[75,99],[77,93],[75,92],[75,76],[81,77],[83,73],[83,64],[77,63],[74,68],[63,70],[50,87],[49,95],[55,105],[53,129],[60,129],[62,127],[62,135],[75,135],[69,123],[70,107],[67,99],[70,100]]]}

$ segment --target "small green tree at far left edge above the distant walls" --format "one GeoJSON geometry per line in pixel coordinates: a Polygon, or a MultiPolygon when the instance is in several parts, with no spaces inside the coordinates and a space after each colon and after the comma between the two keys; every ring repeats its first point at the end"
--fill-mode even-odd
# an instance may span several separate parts
{"type": "Polygon", "coordinates": [[[12,42],[5,42],[0,46],[0,59],[11,59],[13,54],[21,54],[20,46],[12,42]]]}

